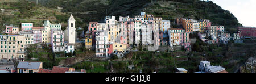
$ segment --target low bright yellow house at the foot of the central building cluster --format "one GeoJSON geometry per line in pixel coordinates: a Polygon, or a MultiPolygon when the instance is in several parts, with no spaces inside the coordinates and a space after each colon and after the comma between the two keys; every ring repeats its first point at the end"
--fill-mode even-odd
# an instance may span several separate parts
{"type": "Polygon", "coordinates": [[[113,47],[113,53],[123,53],[126,51],[127,46],[120,43],[114,43],[112,44],[113,47]]]}

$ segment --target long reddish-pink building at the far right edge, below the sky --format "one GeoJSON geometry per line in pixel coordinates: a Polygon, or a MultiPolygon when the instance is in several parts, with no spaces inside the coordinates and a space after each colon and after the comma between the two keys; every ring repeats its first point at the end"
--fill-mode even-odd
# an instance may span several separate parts
{"type": "Polygon", "coordinates": [[[238,27],[240,37],[256,37],[256,27],[238,27]]]}

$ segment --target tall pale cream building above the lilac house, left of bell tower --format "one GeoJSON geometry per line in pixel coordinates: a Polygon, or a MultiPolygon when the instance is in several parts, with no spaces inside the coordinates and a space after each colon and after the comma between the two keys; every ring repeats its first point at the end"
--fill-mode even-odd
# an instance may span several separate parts
{"type": "Polygon", "coordinates": [[[42,42],[51,43],[51,27],[44,27],[42,30],[42,42]]]}

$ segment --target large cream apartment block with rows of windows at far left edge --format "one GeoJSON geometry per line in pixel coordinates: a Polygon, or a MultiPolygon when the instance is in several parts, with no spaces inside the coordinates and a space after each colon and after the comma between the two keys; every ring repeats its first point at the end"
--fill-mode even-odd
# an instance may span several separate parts
{"type": "Polygon", "coordinates": [[[23,35],[0,35],[0,59],[23,61],[26,57],[24,39],[23,35]]]}

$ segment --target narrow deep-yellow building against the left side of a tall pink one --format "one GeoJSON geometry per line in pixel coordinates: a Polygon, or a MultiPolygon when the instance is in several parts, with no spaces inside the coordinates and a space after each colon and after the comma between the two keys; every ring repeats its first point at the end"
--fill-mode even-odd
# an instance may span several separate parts
{"type": "Polygon", "coordinates": [[[85,33],[85,48],[92,48],[92,33],[89,30],[85,33]]]}

